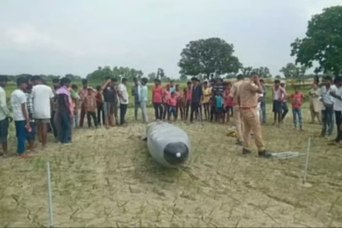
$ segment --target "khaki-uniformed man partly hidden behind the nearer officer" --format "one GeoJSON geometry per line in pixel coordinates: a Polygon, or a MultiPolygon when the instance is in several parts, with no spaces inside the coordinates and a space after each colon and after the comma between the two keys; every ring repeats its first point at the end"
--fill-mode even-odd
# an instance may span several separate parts
{"type": "Polygon", "coordinates": [[[242,132],[244,131],[244,125],[241,120],[240,109],[237,102],[239,87],[241,83],[244,82],[244,76],[238,75],[237,82],[232,85],[231,92],[229,96],[233,97],[233,102],[235,104],[233,108],[233,115],[235,121],[235,128],[236,128],[236,144],[242,146],[242,132]]]}

